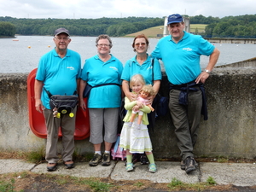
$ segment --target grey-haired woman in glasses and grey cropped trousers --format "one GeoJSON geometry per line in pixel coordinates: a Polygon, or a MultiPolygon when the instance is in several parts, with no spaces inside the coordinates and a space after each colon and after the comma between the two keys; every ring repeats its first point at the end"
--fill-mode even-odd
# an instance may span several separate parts
{"type": "Polygon", "coordinates": [[[79,107],[89,108],[90,143],[93,143],[95,154],[90,166],[110,165],[110,148],[117,139],[119,107],[121,103],[122,63],[110,54],[112,40],[108,35],[96,38],[97,55],[85,60],[79,84],[79,107]],[[86,84],[94,87],[90,90],[87,106],[83,100],[86,84]],[[101,148],[104,141],[105,151],[101,148]]]}

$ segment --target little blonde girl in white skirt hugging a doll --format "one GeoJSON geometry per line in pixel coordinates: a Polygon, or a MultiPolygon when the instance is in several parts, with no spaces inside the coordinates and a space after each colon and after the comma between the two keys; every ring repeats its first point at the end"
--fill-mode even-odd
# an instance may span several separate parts
{"type": "MultiPolygon", "coordinates": [[[[144,84],[145,81],[142,75],[137,74],[131,77],[130,87],[132,92],[134,92],[135,94],[138,94],[140,90],[142,90],[144,84]]],[[[127,113],[124,118],[125,123],[121,131],[119,147],[126,150],[126,171],[131,172],[133,170],[133,164],[131,162],[132,154],[143,154],[145,152],[150,162],[148,167],[149,172],[156,172],[154,156],[152,154],[152,143],[148,135],[147,127],[147,113],[150,113],[151,109],[148,108],[148,106],[143,105],[142,102],[130,101],[127,97],[125,97],[125,109],[127,110],[127,113]],[[137,121],[136,123],[132,123],[132,125],[130,125],[131,113],[135,106],[143,106],[143,108],[139,108],[139,110],[143,112],[143,119],[140,125],[140,129],[137,129],[137,121]]]]}

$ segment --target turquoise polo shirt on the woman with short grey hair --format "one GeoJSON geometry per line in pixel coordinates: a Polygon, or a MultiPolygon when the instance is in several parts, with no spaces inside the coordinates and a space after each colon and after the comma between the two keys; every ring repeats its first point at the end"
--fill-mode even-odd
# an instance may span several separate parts
{"type": "MultiPolygon", "coordinates": [[[[123,64],[111,55],[110,60],[103,62],[98,55],[85,60],[81,79],[88,84],[115,83],[121,86],[123,64]]],[[[119,108],[121,103],[121,87],[118,85],[104,85],[90,90],[88,108],[119,108]]]]}

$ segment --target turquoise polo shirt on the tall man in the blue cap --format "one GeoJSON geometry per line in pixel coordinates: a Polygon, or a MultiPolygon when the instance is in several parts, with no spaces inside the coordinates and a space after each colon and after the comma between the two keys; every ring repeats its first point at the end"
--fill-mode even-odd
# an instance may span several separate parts
{"type": "Polygon", "coordinates": [[[184,32],[176,44],[171,36],[161,38],[151,56],[164,63],[172,84],[186,84],[201,73],[200,56],[211,55],[215,47],[199,35],[184,32]]]}

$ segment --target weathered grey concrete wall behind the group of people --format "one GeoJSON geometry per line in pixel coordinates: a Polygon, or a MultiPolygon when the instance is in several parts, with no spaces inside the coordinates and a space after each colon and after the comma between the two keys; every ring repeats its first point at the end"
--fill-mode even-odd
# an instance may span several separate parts
{"type": "MultiPolygon", "coordinates": [[[[29,127],[26,73],[0,74],[0,149],[31,150],[44,146],[29,127]]],[[[215,68],[207,79],[209,119],[201,119],[196,156],[253,158],[256,155],[256,68],[215,68]]],[[[160,93],[168,96],[164,75],[160,93]]],[[[178,157],[170,115],[158,117],[149,131],[156,158],[178,157]]],[[[88,138],[76,141],[80,154],[93,152],[88,138]]]]}

